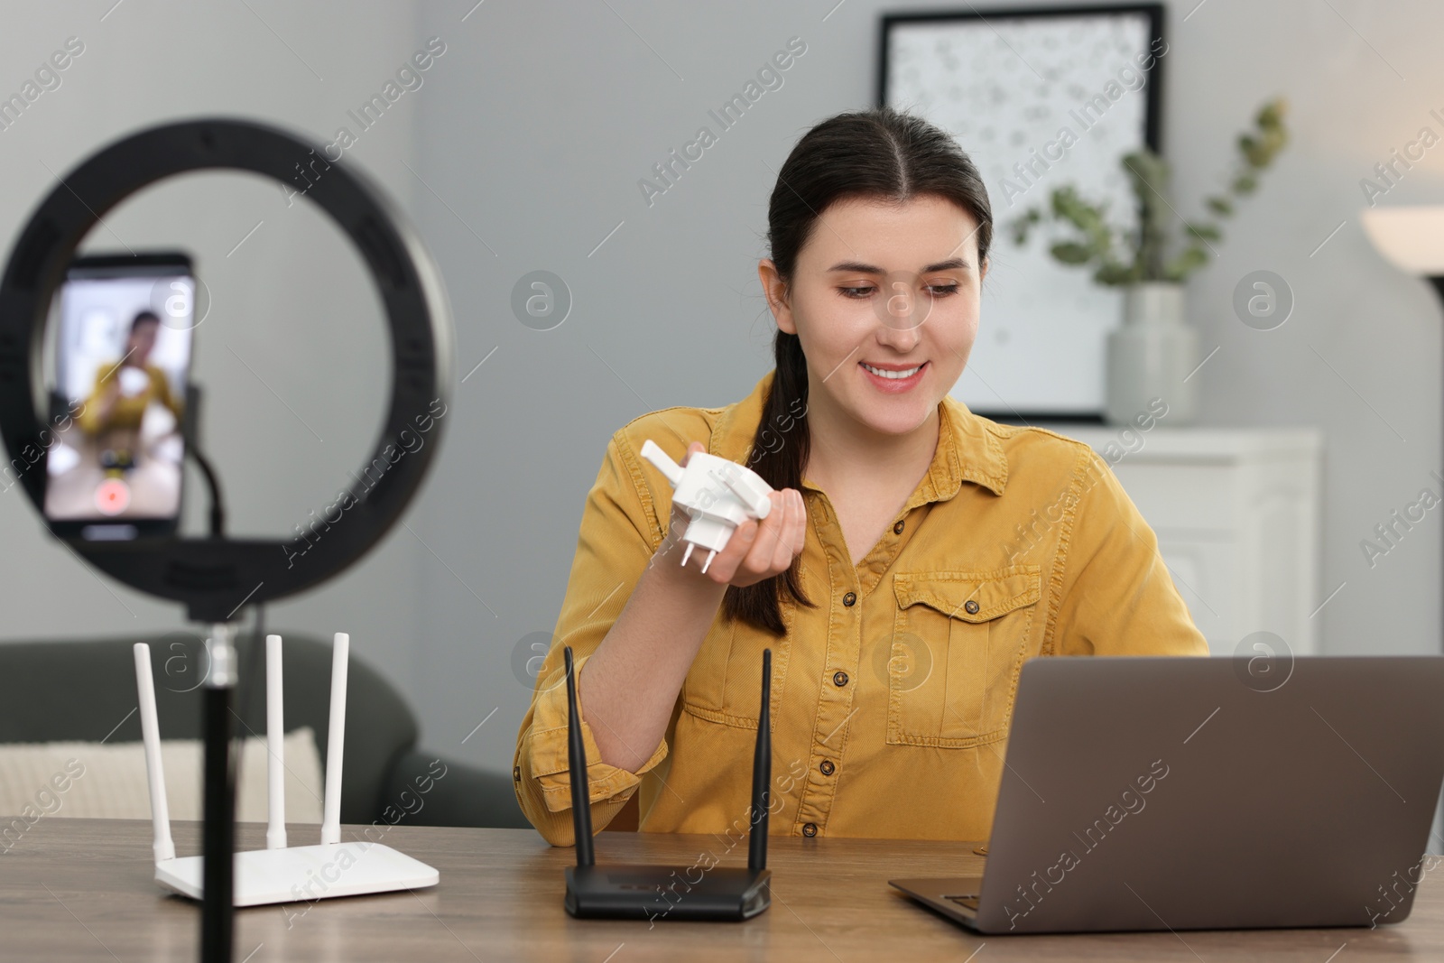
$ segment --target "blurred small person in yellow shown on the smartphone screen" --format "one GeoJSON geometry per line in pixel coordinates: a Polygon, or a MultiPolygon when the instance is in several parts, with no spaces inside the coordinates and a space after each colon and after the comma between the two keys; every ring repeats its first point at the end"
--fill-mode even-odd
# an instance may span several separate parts
{"type": "Polygon", "coordinates": [[[136,463],[140,423],[146,409],[163,404],[180,423],[182,401],[170,390],[166,372],[150,362],[160,318],[142,310],[130,322],[126,354],[95,372],[95,387],[77,416],[81,430],[97,439],[101,468],[126,471],[136,463]]]}

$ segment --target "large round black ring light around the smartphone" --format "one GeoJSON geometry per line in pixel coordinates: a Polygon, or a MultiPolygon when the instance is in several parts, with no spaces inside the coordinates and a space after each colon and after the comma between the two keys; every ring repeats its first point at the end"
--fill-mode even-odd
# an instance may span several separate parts
{"type": "Polygon", "coordinates": [[[375,452],[339,500],[344,514],[295,562],[289,541],[150,539],[129,543],[72,540],[97,569],[131,588],[186,605],[201,622],[228,621],[243,603],[293,595],[357,562],[396,523],[436,455],[452,380],[452,322],[430,254],[380,188],[325,156],[319,143],[245,120],[189,120],[124,137],[71,170],[25,225],[0,280],[0,435],[22,482],[43,508],[48,429],[40,348],[51,300],[85,234],[121,201],[165,178],[231,169],[297,186],[361,253],[381,293],[391,332],[394,377],[375,452]],[[297,180],[297,173],[305,180],[297,180]],[[406,435],[426,429],[407,450],[406,435]],[[401,455],[397,455],[397,453],[401,455]],[[289,546],[289,547],[287,547],[289,546]]]}

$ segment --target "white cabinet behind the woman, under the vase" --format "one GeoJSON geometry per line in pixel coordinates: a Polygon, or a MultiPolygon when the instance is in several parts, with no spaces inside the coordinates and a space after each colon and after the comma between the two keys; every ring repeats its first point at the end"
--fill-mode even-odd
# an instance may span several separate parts
{"type": "Polygon", "coordinates": [[[1113,466],[1214,655],[1256,631],[1318,653],[1317,429],[1041,427],[1113,466]]]}

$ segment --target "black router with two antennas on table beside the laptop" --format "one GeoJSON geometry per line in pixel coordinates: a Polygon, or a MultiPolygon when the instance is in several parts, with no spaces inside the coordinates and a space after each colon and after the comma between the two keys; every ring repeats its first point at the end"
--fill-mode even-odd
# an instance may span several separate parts
{"type": "Polygon", "coordinates": [[[771,905],[767,869],[767,787],[773,781],[773,650],[762,651],[762,702],[752,758],[752,830],[747,869],[741,866],[596,866],[592,858],[592,810],[586,788],[586,746],[576,713],[576,673],[566,648],[566,764],[572,780],[572,827],[576,866],[566,869],[566,911],[611,920],[749,920],[771,905]],[[578,778],[578,774],[582,774],[578,778]],[[700,873],[700,879],[693,876],[700,873]]]}

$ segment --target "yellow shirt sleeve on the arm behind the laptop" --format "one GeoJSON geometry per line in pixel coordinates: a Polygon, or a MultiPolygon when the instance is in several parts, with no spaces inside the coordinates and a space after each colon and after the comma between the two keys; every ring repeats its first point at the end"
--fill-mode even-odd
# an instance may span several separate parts
{"type": "Polygon", "coordinates": [[[1207,655],[1158,553],[1158,537],[1113,469],[1087,450],[1066,541],[1054,651],[1060,655],[1207,655]]]}

